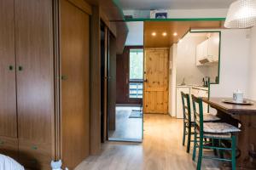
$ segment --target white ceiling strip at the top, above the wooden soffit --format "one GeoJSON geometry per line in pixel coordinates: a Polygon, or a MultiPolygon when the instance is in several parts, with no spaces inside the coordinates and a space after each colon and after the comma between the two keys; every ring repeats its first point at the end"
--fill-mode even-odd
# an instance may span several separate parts
{"type": "Polygon", "coordinates": [[[119,0],[123,9],[229,8],[235,0],[119,0]]]}

